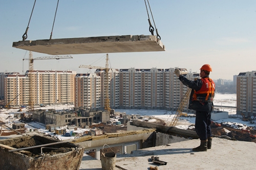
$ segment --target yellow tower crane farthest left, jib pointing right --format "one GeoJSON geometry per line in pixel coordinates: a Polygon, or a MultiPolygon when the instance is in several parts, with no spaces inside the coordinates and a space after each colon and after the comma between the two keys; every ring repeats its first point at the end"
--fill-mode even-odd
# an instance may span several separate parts
{"type": "Polygon", "coordinates": [[[29,113],[31,113],[34,109],[34,98],[33,98],[33,70],[34,70],[34,60],[50,60],[50,59],[69,59],[73,58],[72,56],[48,56],[48,57],[37,57],[33,58],[33,54],[30,51],[29,52],[29,58],[24,58],[24,60],[29,60],[29,71],[28,71],[28,77],[29,77],[29,113]]]}

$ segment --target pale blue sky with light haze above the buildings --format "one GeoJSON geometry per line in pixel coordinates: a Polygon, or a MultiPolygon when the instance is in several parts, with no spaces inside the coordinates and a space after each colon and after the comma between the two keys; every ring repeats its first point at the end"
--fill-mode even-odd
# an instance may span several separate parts
{"type": "MultiPolygon", "coordinates": [[[[26,71],[29,53],[12,47],[21,41],[34,0],[0,1],[0,72],[26,71]]],[[[49,39],[57,0],[37,0],[27,40],[49,39]]],[[[182,67],[199,72],[210,64],[214,80],[232,80],[256,70],[256,1],[151,0],[165,52],[112,53],[112,68],[182,67]]],[[[151,18],[153,23],[153,20],[151,18]]],[[[52,39],[115,35],[150,35],[143,0],[60,0],[52,39]]],[[[33,53],[33,57],[49,56],[33,53]]],[[[105,54],[72,55],[73,59],[37,60],[37,70],[90,70],[80,64],[104,66],[105,54]],[[95,60],[101,59],[101,62],[95,60]]],[[[94,70],[92,70],[94,71],[94,70]]]]}

